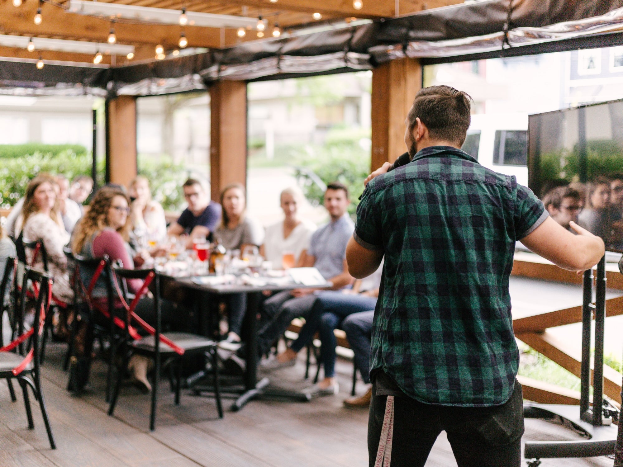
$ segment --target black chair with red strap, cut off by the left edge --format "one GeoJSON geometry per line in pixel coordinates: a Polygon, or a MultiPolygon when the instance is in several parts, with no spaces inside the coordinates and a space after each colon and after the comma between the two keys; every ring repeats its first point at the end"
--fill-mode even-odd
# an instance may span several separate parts
{"type": "Polygon", "coordinates": [[[32,421],[31,403],[28,395],[28,387],[32,389],[32,393],[36,400],[39,400],[41,415],[45,423],[45,430],[50,441],[50,448],[55,449],[54,436],[52,435],[52,427],[45,408],[44,395],[41,389],[41,366],[40,366],[40,342],[39,339],[43,333],[45,316],[49,312],[50,301],[52,300],[52,278],[43,272],[26,267],[24,269],[24,278],[21,288],[21,316],[26,315],[27,300],[26,292],[29,282],[32,290],[36,290],[34,300],[34,323],[32,328],[26,333],[21,334],[10,344],[0,348],[0,378],[17,379],[22,387],[24,395],[24,405],[26,406],[26,417],[28,418],[28,428],[32,430],[34,423],[32,421]],[[26,356],[14,353],[20,344],[27,342],[26,356]]]}

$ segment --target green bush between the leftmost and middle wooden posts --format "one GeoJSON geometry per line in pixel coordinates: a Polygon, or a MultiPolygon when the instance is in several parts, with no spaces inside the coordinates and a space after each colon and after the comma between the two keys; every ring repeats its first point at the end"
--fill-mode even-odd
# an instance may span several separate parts
{"type": "Polygon", "coordinates": [[[174,163],[169,156],[154,158],[139,154],[138,173],[150,181],[151,196],[164,210],[179,210],[184,202],[182,184],[188,178],[183,164],[174,163]]]}

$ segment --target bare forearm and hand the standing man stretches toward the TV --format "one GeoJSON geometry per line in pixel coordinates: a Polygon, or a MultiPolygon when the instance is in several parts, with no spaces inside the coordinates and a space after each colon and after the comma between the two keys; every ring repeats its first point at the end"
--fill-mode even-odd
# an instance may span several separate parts
{"type": "Polygon", "coordinates": [[[575,222],[571,222],[570,226],[578,235],[571,234],[548,217],[534,232],[520,241],[531,251],[558,267],[569,271],[589,270],[604,255],[604,240],[575,222]]]}

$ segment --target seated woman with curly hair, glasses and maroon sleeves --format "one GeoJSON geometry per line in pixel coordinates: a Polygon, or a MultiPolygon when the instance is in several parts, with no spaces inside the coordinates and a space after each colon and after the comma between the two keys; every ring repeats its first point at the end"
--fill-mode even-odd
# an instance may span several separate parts
{"type": "MultiPolygon", "coordinates": [[[[119,187],[107,186],[100,189],[93,200],[87,214],[78,222],[75,227],[72,251],[86,258],[101,258],[108,255],[112,263],[121,263],[125,269],[133,269],[135,264],[142,264],[143,257],[133,258],[130,245],[128,245],[131,222],[129,219],[130,207],[129,200],[125,192],[119,187]]],[[[93,271],[80,270],[83,283],[91,281],[93,271]]],[[[136,293],[143,281],[130,280],[128,288],[136,293]]],[[[103,278],[95,284],[92,297],[107,306],[107,291],[103,278]]],[[[163,326],[173,321],[175,305],[169,301],[161,301],[162,323],[163,326]]],[[[115,304],[121,316],[120,301],[115,304]]],[[[125,311],[125,310],[124,310],[125,311]]],[[[145,319],[152,326],[156,322],[153,298],[143,296],[135,308],[136,314],[145,319]]],[[[151,385],[147,379],[147,372],[150,370],[151,359],[144,356],[133,355],[128,363],[128,369],[133,374],[133,380],[144,392],[151,390],[151,385]]]]}

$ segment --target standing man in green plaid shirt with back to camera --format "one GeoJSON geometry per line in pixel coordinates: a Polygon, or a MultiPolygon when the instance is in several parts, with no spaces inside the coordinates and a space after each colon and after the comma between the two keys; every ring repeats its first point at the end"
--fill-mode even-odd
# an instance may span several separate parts
{"type": "Polygon", "coordinates": [[[470,125],[464,92],[420,90],[406,123],[412,159],[369,177],[346,250],[356,278],[385,261],[369,465],[391,456],[392,467],[424,466],[445,431],[460,467],[519,466],[523,400],[508,291],[515,242],[573,271],[596,265],[604,243],[573,221],[578,235],[563,229],[515,177],[460,151],[470,125]]]}

